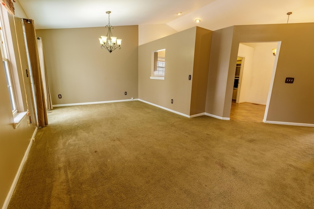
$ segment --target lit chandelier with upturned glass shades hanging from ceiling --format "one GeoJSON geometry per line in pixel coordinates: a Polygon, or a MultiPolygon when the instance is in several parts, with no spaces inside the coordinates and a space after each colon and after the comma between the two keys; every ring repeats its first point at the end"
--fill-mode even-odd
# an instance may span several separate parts
{"type": "Polygon", "coordinates": [[[108,25],[106,25],[106,28],[108,28],[107,31],[107,35],[106,36],[101,36],[101,38],[99,38],[99,42],[101,44],[101,48],[105,48],[106,50],[108,50],[108,52],[112,52],[116,49],[121,49],[120,45],[121,45],[121,41],[122,39],[119,39],[115,36],[112,35],[111,29],[113,29],[113,26],[110,25],[110,13],[111,11],[106,11],[106,13],[108,14],[108,20],[109,23],[108,25]]]}

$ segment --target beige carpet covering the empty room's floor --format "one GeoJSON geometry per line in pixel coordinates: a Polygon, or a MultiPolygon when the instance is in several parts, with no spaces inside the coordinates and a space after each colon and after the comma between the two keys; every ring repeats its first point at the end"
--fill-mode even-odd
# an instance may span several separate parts
{"type": "Polygon", "coordinates": [[[10,209],[314,208],[314,128],[139,101],[53,109],[10,209]]]}

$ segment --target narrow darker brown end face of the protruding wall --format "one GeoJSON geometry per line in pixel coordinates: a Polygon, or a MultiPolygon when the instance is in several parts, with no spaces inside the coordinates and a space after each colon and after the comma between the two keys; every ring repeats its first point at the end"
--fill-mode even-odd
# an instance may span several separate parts
{"type": "Polygon", "coordinates": [[[212,31],[196,27],[190,115],[205,112],[212,31]]]}

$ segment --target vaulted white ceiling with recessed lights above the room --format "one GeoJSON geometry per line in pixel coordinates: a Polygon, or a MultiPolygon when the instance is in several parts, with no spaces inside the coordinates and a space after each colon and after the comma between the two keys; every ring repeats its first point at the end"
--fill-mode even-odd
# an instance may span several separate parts
{"type": "Polygon", "coordinates": [[[177,31],[314,22],[314,0],[19,0],[36,29],[167,24],[177,31]],[[177,15],[182,12],[182,15],[177,15]],[[194,20],[200,19],[200,23],[194,20]]]}

